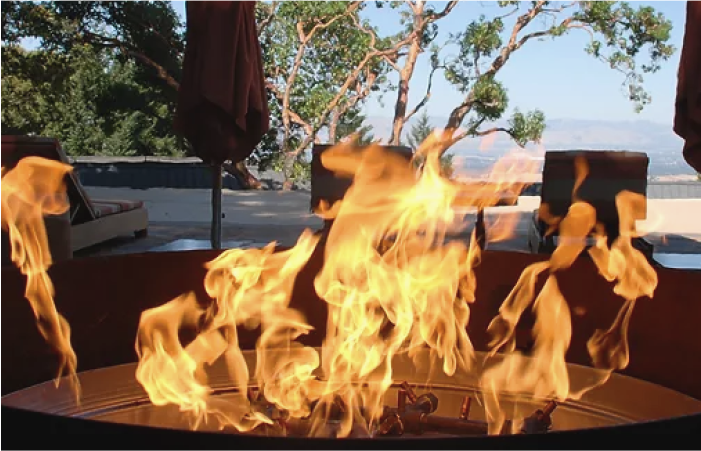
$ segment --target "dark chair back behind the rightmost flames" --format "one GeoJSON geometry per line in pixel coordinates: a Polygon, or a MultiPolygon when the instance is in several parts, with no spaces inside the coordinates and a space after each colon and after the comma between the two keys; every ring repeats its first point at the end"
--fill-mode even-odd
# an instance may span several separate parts
{"type": "MultiPolygon", "coordinates": [[[[642,152],[628,151],[548,151],[543,165],[541,205],[547,204],[551,216],[563,218],[572,204],[572,192],[576,181],[575,161],[583,157],[589,172],[577,190],[577,198],[590,203],[596,209],[597,222],[604,226],[611,244],[619,234],[619,217],[616,196],[631,191],[646,196],[649,158],[642,152]]],[[[647,216],[647,205],[636,209],[635,220],[647,216]]],[[[528,247],[533,253],[551,253],[558,239],[558,224],[550,226],[543,220],[542,212],[535,210],[528,232],[528,247]]],[[[651,255],[651,245],[644,240],[634,243],[651,255]]]]}

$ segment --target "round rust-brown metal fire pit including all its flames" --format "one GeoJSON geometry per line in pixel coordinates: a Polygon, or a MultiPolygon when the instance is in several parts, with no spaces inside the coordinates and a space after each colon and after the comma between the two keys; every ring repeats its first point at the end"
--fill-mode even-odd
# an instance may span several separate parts
{"type": "Polygon", "coordinates": [[[489,253],[474,232],[450,238],[464,193],[439,175],[437,154],[418,179],[381,148],[325,157],[354,183],[320,208],[333,225],[291,248],[48,272],[41,221],[44,207],[60,210],[60,183],[32,176],[66,167],[30,160],[3,177],[19,268],[2,274],[3,443],[25,422],[259,449],[419,437],[543,446],[698,423],[699,273],[656,270],[632,246],[643,197],[616,196],[611,243],[576,200],[548,219],[564,237],[549,258],[489,253]],[[58,388],[27,388],[57,369],[68,374],[58,388]]]}

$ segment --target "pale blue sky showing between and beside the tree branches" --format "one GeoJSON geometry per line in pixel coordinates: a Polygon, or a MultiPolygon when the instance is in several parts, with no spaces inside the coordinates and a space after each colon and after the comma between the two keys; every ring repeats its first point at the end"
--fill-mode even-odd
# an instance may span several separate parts
{"type": "MultiPolygon", "coordinates": [[[[172,0],[175,9],[184,15],[185,0],[172,0]]],[[[324,1],[324,0],[321,0],[324,1]]],[[[328,0],[327,0],[328,1],[328,0]]],[[[431,3],[441,8],[446,0],[431,3]]],[[[633,6],[650,5],[663,12],[672,21],[671,43],[681,48],[685,0],[629,0],[633,6]]],[[[491,15],[496,0],[463,0],[450,16],[440,22],[441,36],[460,31],[465,24],[479,14],[491,15]]],[[[398,14],[389,9],[371,10],[368,18],[375,25],[387,27],[392,33],[398,27],[398,14]]],[[[509,60],[499,78],[509,89],[510,105],[522,110],[539,108],[550,119],[599,119],[599,120],[649,120],[671,124],[674,114],[677,65],[679,51],[660,71],[648,74],[645,86],[652,96],[652,103],[643,112],[635,113],[622,88],[622,74],[608,68],[600,61],[584,53],[588,35],[573,32],[557,40],[531,42],[509,60]]],[[[441,37],[439,37],[439,42],[441,37]]],[[[410,102],[419,99],[426,87],[430,67],[427,57],[419,59],[410,85],[410,102]]],[[[457,93],[442,77],[434,80],[434,89],[427,108],[431,116],[447,116],[460,101],[457,93]]],[[[392,116],[393,98],[385,97],[385,105],[373,98],[368,102],[366,114],[392,116]]]]}

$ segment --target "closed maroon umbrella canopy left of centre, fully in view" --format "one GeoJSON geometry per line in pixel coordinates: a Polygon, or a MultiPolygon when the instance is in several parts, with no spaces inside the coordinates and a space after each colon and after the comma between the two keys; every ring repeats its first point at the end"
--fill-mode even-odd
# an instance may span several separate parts
{"type": "Polygon", "coordinates": [[[203,161],[248,157],[269,129],[256,0],[187,0],[175,129],[203,161]]]}

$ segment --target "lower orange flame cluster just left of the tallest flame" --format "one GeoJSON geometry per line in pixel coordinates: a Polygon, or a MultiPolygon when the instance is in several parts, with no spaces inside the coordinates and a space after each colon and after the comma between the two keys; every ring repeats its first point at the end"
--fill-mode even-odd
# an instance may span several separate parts
{"type": "Polygon", "coordinates": [[[237,326],[260,327],[255,373],[259,387],[267,399],[295,415],[308,413],[307,392],[312,371],[319,366],[318,355],[294,342],[310,327],[288,305],[294,278],[317,240],[307,231],[288,251],[274,252],[273,243],[263,249],[226,251],[208,264],[205,288],[214,300],[211,306],[205,309],[194,295],[186,295],[144,312],[136,345],[140,357],[137,380],[151,401],[175,404],[194,414],[195,427],[207,415],[241,431],[270,423],[264,415],[251,412],[245,396],[249,369],[236,330],[237,326]],[[198,325],[197,338],[183,347],[180,330],[198,325]],[[266,351],[271,348],[278,358],[269,358],[266,351]],[[240,396],[232,403],[218,403],[204,380],[203,365],[220,357],[226,359],[239,389],[240,396]]]}

